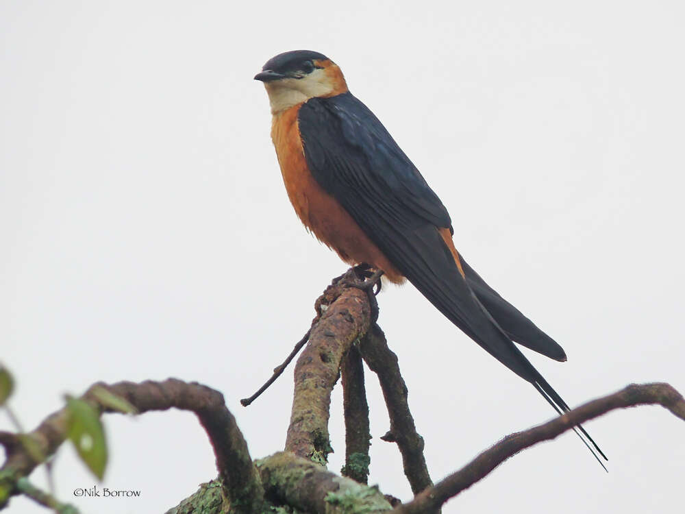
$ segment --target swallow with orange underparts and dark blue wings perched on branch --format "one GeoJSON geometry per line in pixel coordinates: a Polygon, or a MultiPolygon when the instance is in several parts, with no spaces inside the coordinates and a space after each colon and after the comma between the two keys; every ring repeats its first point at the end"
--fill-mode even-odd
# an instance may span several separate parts
{"type": "MultiPolygon", "coordinates": [[[[514,343],[560,362],[566,353],[466,263],[443,202],[350,93],[340,66],[316,51],[286,51],[254,78],[266,88],[286,192],[306,228],[349,265],[375,269],[396,284],[408,280],[559,415],[568,412],[514,343]]],[[[582,426],[574,430],[606,469],[597,443],[582,426]]]]}

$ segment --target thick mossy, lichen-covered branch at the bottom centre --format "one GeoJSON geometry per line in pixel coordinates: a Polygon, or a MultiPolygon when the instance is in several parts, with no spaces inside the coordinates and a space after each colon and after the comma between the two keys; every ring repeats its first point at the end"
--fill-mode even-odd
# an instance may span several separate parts
{"type": "Polygon", "coordinates": [[[256,465],[266,497],[300,511],[373,514],[392,509],[377,488],[338,476],[290,452],[279,452],[256,465]]]}

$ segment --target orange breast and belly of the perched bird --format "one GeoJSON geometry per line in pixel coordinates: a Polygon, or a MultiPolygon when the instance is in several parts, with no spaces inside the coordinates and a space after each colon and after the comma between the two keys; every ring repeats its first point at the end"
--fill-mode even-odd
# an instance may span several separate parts
{"type": "Polygon", "coordinates": [[[300,106],[275,114],[271,125],[271,138],[283,182],[297,216],[319,241],[338,252],[348,264],[366,262],[382,269],[391,282],[403,282],[401,273],[364,234],[357,222],[312,177],[297,126],[300,106]]]}

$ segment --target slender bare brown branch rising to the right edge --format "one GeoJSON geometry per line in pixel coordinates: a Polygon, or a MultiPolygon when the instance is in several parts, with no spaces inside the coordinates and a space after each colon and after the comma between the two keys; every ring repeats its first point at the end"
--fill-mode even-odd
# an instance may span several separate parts
{"type": "Polygon", "coordinates": [[[673,415],[685,420],[685,400],[669,384],[631,384],[625,389],[608,396],[598,398],[572,411],[556,417],[547,423],[534,426],[523,432],[508,435],[499,443],[485,450],[469,464],[438,482],[435,487],[429,487],[416,496],[412,502],[395,509],[397,514],[420,514],[436,509],[449,498],[458,495],[464,489],[471,487],[478,480],[506,461],[511,456],[529,448],[530,446],[554,439],[574,426],[613,411],[616,408],[634,407],[638,405],[659,404],[667,408],[673,415]]]}

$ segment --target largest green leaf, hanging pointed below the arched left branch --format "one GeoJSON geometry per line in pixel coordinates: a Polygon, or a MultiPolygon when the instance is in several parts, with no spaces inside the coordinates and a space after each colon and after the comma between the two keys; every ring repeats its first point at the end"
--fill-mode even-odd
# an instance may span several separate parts
{"type": "Polygon", "coordinates": [[[69,420],[66,435],[90,471],[100,480],[107,465],[107,443],[97,409],[85,400],[66,398],[69,420]]]}

